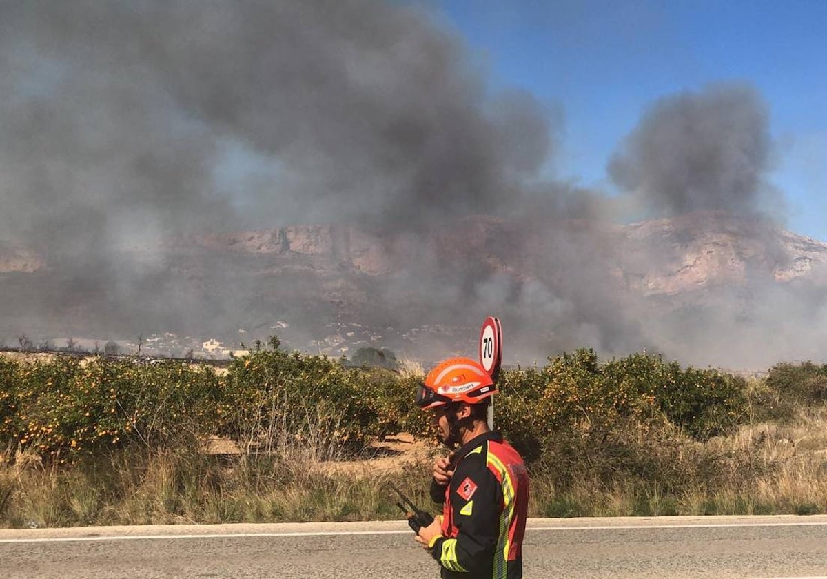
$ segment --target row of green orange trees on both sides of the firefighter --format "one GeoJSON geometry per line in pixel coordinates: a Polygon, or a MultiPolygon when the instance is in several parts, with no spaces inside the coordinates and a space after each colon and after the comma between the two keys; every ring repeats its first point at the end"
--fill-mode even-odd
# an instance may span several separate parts
{"type": "MultiPolygon", "coordinates": [[[[420,376],[285,352],[278,338],[269,345],[233,359],[223,376],[171,361],[0,359],[0,445],[62,461],[113,447],[194,445],[218,434],[248,452],[299,442],[332,457],[388,433],[432,434],[429,414],[414,404],[420,376]]],[[[600,363],[581,349],[542,368],[503,371],[498,388],[497,426],[529,462],[550,449],[576,456],[597,447],[601,457],[611,455],[609,471],[636,460],[617,433],[667,424],[702,440],[729,432],[748,414],[743,379],[647,354],[600,363]]]]}

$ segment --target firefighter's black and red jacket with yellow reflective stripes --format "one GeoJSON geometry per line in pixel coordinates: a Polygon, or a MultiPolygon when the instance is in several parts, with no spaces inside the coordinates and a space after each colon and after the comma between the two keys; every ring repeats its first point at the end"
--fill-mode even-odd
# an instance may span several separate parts
{"type": "Polygon", "coordinates": [[[431,551],[442,577],[523,577],[528,473],[500,433],[480,434],[461,447],[450,483],[432,481],[431,498],[444,504],[443,536],[431,551]]]}

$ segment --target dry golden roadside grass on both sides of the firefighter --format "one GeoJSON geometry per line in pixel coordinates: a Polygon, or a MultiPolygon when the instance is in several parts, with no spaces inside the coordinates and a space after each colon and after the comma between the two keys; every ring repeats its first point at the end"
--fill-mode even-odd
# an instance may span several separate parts
{"type": "MultiPolygon", "coordinates": [[[[606,449],[593,448],[593,455],[569,457],[567,476],[543,470],[542,462],[533,466],[530,514],[827,512],[827,408],[799,409],[794,420],[745,425],[706,443],[648,428],[619,436],[628,454],[615,462],[600,463],[606,449]]],[[[433,507],[430,465],[440,452],[433,445],[390,437],[349,457],[332,452],[331,441],[276,439],[270,452],[213,441],[195,449],[118,452],[62,470],[7,449],[0,453],[0,524],[398,519],[386,481],[433,507]]],[[[561,457],[546,458],[564,468],[561,457]]]]}

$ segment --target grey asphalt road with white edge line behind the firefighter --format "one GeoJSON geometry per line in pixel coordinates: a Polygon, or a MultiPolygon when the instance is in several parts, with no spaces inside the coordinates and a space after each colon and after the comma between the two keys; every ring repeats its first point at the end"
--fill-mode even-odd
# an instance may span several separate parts
{"type": "MultiPolygon", "coordinates": [[[[529,577],[827,577],[827,516],[529,519],[529,577]]],[[[438,577],[404,522],[0,529],[0,577],[438,577]]]]}

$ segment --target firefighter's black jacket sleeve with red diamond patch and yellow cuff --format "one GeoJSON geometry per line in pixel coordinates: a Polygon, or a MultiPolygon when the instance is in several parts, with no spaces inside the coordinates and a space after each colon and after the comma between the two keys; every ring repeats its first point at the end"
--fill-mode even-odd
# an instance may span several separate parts
{"type": "Polygon", "coordinates": [[[457,538],[433,544],[435,559],[451,571],[475,572],[490,568],[500,535],[502,490],[485,465],[485,454],[466,457],[451,480],[451,509],[457,538]],[[463,487],[466,487],[463,489],[463,487]],[[468,490],[476,486],[467,500],[468,490]]]}

